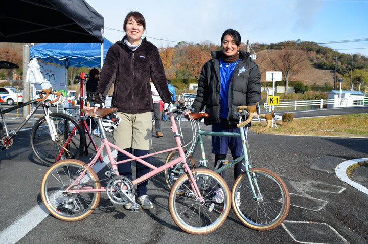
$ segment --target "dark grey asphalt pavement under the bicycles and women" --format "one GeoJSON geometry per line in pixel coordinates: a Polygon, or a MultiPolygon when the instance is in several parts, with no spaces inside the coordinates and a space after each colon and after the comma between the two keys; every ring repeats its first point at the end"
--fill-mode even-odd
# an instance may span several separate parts
{"type": "MultiPolygon", "coordinates": [[[[11,126],[16,124],[17,119],[13,119],[11,126]]],[[[183,138],[188,143],[191,126],[187,121],[180,124],[183,138]]],[[[201,126],[203,130],[210,130],[209,126],[201,126]]],[[[170,123],[162,122],[162,128],[164,137],[152,136],[154,151],[174,143],[170,123]]],[[[257,135],[250,132],[249,146],[254,164],[279,174],[288,187],[291,206],[286,220],[273,230],[259,232],[245,227],[231,211],[216,231],[190,235],[181,231],[171,218],[167,204],[169,190],[163,174],[149,181],[148,193],[154,204],[152,210],[132,213],[123,206],[111,204],[106,194],[102,194],[98,208],[82,221],[70,223],[52,217],[42,207],[39,195],[40,182],[48,167],[33,158],[29,134],[30,129],[19,132],[13,146],[0,151],[0,191],[3,196],[0,202],[0,243],[368,242],[368,195],[340,180],[335,173],[336,167],[343,162],[368,158],[367,138],[257,135]]],[[[109,140],[112,140],[111,135],[109,140]]],[[[210,137],[204,138],[204,146],[209,168],[213,169],[210,137]]],[[[83,156],[81,160],[87,162],[90,156],[83,156]]],[[[166,154],[157,155],[151,162],[159,166],[165,158],[166,154]]],[[[198,161],[198,152],[194,159],[198,161]]],[[[98,176],[102,179],[107,166],[102,163],[100,166],[98,176]]],[[[366,167],[356,167],[352,179],[364,185],[367,174],[361,170],[366,167]]],[[[231,188],[233,169],[228,171],[225,180],[231,188]]]]}

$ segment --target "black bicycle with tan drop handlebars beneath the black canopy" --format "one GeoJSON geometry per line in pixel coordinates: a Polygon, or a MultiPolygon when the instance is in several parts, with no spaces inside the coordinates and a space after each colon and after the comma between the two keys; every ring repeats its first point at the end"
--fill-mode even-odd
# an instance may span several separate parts
{"type": "Polygon", "coordinates": [[[84,131],[76,119],[63,113],[51,113],[49,106],[45,103],[49,94],[57,95],[56,102],[61,92],[56,93],[52,88],[39,92],[39,98],[29,102],[3,110],[0,104],[0,150],[8,149],[13,145],[14,137],[24,127],[35,111],[42,105],[44,116],[33,126],[30,136],[31,150],[34,156],[46,165],[52,165],[61,159],[77,159],[85,144],[84,131]],[[5,114],[18,108],[36,103],[24,121],[16,130],[8,131],[5,114]]]}

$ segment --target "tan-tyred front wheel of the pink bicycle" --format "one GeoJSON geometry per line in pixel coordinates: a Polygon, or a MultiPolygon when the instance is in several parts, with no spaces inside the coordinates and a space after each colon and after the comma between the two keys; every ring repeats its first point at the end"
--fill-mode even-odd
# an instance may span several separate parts
{"type": "Polygon", "coordinates": [[[200,202],[190,187],[188,173],[181,175],[169,195],[170,214],[183,231],[191,234],[207,234],[219,228],[225,221],[230,208],[231,197],[226,182],[209,169],[192,170],[194,179],[204,202],[200,202]],[[183,195],[177,194],[185,188],[183,195]],[[223,199],[215,202],[216,192],[221,188],[223,199]],[[220,203],[221,202],[221,203],[220,203]]]}

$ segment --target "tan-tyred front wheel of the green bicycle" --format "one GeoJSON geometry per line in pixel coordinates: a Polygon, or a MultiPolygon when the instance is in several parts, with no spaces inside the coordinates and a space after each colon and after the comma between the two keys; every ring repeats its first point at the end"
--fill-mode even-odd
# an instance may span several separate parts
{"type": "Polygon", "coordinates": [[[254,199],[247,173],[243,172],[233,185],[233,210],[251,229],[265,231],[278,227],[289,213],[289,191],[280,176],[271,170],[254,168],[251,171],[257,199],[254,199]]]}

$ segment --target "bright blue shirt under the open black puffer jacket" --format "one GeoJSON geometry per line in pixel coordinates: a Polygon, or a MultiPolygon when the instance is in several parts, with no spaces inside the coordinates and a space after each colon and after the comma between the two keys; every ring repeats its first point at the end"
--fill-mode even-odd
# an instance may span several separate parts
{"type": "MultiPolygon", "coordinates": [[[[239,59],[240,60],[240,59],[239,59]]],[[[228,116],[228,93],[230,80],[233,75],[234,69],[238,64],[238,61],[234,63],[225,63],[220,58],[220,79],[221,79],[221,90],[220,90],[220,117],[227,119],[228,116]]]]}

